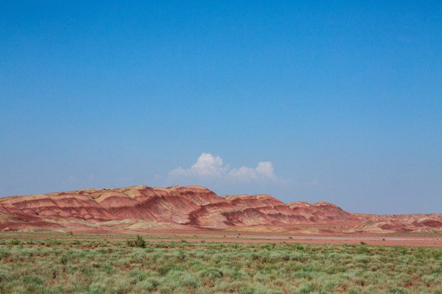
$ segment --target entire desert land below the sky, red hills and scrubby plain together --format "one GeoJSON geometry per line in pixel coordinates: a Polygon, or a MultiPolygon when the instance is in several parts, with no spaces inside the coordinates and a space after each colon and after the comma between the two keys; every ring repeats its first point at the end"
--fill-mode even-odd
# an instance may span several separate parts
{"type": "Polygon", "coordinates": [[[441,214],[199,186],[0,199],[1,293],[442,293],[441,214]]]}

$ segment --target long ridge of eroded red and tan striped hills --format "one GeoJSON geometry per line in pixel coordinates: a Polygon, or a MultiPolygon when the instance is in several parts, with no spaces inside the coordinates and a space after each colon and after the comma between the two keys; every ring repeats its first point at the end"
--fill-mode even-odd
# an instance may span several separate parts
{"type": "Polygon", "coordinates": [[[350,214],[323,201],[284,204],[269,195],[217,196],[198,186],[84,189],[0,199],[0,231],[202,228],[278,228],[304,233],[442,231],[442,215],[350,214]]]}

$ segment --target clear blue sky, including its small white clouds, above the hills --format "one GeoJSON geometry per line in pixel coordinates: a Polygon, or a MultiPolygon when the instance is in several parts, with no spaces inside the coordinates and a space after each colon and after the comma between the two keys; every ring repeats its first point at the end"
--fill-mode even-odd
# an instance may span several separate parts
{"type": "Polygon", "coordinates": [[[442,213],[441,1],[0,4],[0,196],[133,184],[442,213]]]}

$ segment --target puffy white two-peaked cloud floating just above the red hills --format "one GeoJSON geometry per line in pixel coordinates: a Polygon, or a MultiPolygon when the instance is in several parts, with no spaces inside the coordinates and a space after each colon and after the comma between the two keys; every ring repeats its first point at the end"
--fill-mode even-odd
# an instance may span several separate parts
{"type": "Polygon", "coordinates": [[[257,167],[239,167],[231,169],[222,162],[222,158],[210,153],[202,153],[189,169],[178,167],[169,173],[172,177],[201,177],[225,180],[275,180],[272,162],[258,162],[257,167]]]}

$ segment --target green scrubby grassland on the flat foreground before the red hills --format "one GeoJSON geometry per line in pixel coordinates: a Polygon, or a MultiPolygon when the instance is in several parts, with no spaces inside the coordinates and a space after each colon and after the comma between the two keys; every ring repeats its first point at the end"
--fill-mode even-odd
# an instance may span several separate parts
{"type": "Polygon", "coordinates": [[[441,248],[63,236],[0,234],[0,292],[442,294],[441,248]]]}

